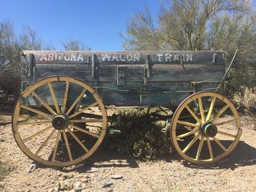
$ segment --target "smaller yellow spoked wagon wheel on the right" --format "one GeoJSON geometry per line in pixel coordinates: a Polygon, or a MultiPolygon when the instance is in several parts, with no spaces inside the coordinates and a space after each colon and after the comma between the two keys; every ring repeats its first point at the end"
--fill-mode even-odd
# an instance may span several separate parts
{"type": "Polygon", "coordinates": [[[211,164],[230,154],[241,132],[240,118],[232,102],[219,93],[204,91],[187,97],[178,106],[170,137],[178,154],[187,161],[211,164]],[[191,118],[184,120],[181,114],[191,118]],[[182,134],[179,130],[183,130],[182,134]]]}

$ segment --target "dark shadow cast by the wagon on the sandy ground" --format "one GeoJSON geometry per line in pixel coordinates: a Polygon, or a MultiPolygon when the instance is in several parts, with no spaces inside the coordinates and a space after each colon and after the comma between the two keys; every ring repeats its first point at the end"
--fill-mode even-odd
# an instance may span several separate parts
{"type": "MultiPolygon", "coordinates": [[[[256,148],[246,144],[243,141],[238,142],[238,146],[233,152],[226,158],[222,159],[216,164],[208,165],[195,165],[189,164],[184,161],[178,153],[174,150],[172,153],[165,154],[157,157],[154,161],[166,161],[171,163],[172,161],[180,161],[181,164],[192,169],[236,169],[239,166],[252,166],[256,164],[256,148]]],[[[85,166],[73,169],[64,169],[64,172],[72,172],[74,169],[77,172],[86,172],[87,170],[102,167],[128,167],[138,168],[138,161],[136,158],[129,157],[128,155],[120,154],[117,151],[107,150],[106,147],[102,147],[89,158],[88,161],[84,162],[85,166]]]]}

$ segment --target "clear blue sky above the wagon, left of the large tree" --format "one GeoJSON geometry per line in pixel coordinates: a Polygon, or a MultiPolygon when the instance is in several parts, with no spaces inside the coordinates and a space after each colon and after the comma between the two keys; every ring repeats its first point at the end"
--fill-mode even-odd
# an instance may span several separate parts
{"type": "Polygon", "coordinates": [[[10,20],[17,33],[26,25],[37,31],[45,45],[61,50],[66,39],[80,39],[92,50],[122,50],[120,31],[127,19],[148,5],[157,18],[160,0],[0,0],[0,22],[10,20]]]}

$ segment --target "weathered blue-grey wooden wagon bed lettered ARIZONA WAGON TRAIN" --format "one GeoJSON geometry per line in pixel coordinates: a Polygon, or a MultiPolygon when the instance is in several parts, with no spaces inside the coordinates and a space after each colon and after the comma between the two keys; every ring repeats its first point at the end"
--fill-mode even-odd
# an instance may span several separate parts
{"type": "Polygon", "coordinates": [[[222,51],[23,51],[23,88],[69,75],[93,86],[106,105],[178,106],[191,93],[214,90],[225,72],[222,51]]]}

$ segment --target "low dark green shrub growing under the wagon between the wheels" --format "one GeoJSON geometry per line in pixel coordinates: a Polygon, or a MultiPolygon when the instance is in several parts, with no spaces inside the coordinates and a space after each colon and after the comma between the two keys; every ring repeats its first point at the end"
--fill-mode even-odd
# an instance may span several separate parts
{"type": "Polygon", "coordinates": [[[108,134],[106,147],[141,160],[152,160],[170,153],[169,134],[154,123],[146,110],[118,110],[116,114],[110,129],[119,130],[121,134],[108,134]]]}

